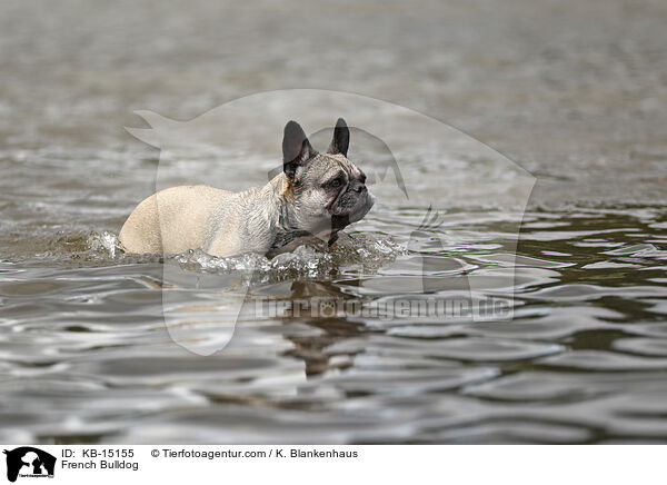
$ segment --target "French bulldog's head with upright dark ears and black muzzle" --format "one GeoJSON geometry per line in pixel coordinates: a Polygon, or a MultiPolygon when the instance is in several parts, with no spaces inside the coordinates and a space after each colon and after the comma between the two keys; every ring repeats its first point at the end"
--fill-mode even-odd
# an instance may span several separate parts
{"type": "Polygon", "coordinates": [[[289,181],[296,228],[331,237],[370,210],[366,175],[347,158],[350,130],[342,118],[326,154],[318,154],[296,121],[285,126],[282,169],[289,181]]]}

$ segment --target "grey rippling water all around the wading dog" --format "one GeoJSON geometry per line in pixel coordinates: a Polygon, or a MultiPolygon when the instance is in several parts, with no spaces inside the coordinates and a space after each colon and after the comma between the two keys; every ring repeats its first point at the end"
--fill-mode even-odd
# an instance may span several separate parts
{"type": "MultiPolygon", "coordinates": [[[[0,7],[0,441],[667,439],[663,3],[424,2],[355,16],[322,3],[322,14],[305,7],[308,21],[270,2],[252,12],[195,2],[189,16],[126,7],[0,7]],[[370,21],[387,11],[392,20],[370,21]],[[397,39],[399,27],[409,34],[397,39]],[[408,129],[398,151],[412,165],[401,169],[429,176],[408,185],[410,200],[379,198],[329,249],[273,260],[116,249],[125,218],[155,190],[160,157],[122,129],[140,126],[132,110],[188,120],[302,87],[451,122],[537,177],[526,212],[488,196],[482,179],[501,172],[479,171],[490,166],[484,147],[414,146],[420,132],[408,129]],[[447,182],[438,246],[419,230],[419,197],[447,182]],[[425,276],[451,295],[460,278],[514,270],[514,319],[243,317],[222,352],[200,356],[166,329],[165,268],[215,281],[256,269],[242,295],[250,306],[372,306],[412,294],[425,276]]],[[[354,115],[348,122],[376,112],[354,115]]],[[[259,112],[243,132],[266,122],[259,112]]],[[[279,145],[257,142],[266,179],[279,145]]],[[[372,147],[358,152],[365,168],[381,155],[372,147]]],[[[191,154],[178,174],[211,174],[223,187],[217,162],[191,154]]],[[[181,318],[193,324],[181,336],[215,344],[221,331],[207,319],[225,308],[220,295],[238,293],[238,280],[188,291],[181,318]]]]}

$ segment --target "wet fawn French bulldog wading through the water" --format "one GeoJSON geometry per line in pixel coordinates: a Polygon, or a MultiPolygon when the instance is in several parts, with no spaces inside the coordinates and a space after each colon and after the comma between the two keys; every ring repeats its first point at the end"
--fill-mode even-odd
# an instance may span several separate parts
{"type": "Polygon", "coordinates": [[[135,208],[119,234],[130,254],[275,255],[360,220],[375,204],[366,175],[347,158],[350,131],[342,118],[326,154],[317,152],[296,121],[285,126],[282,171],[265,187],[229,192],[206,185],[161,190],[135,208]]]}

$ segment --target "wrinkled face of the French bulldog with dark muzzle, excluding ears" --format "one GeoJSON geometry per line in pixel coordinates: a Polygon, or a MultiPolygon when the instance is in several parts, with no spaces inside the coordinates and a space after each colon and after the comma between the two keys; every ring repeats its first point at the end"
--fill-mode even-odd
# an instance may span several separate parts
{"type": "Polygon", "coordinates": [[[341,154],[315,156],[293,181],[295,206],[303,229],[336,232],[361,220],[375,198],[366,175],[341,154]]]}

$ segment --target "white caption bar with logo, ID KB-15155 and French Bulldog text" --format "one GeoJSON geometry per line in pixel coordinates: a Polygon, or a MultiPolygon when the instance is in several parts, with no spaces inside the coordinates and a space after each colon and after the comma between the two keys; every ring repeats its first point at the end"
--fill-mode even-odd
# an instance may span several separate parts
{"type": "Polygon", "coordinates": [[[4,483],[162,484],[219,478],[243,483],[650,483],[660,446],[141,445],[3,446],[4,483]],[[555,463],[567,463],[567,467],[555,463]],[[601,466],[604,464],[604,466],[601,466]],[[548,473],[545,473],[548,471],[548,473]]]}

